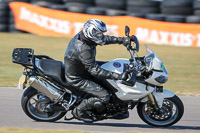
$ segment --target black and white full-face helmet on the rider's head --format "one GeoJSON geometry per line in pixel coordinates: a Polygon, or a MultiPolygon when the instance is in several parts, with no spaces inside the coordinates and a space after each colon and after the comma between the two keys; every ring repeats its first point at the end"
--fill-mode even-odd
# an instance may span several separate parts
{"type": "Polygon", "coordinates": [[[103,33],[106,31],[106,24],[98,19],[90,19],[83,25],[84,36],[96,44],[103,45],[105,43],[103,33]]]}

